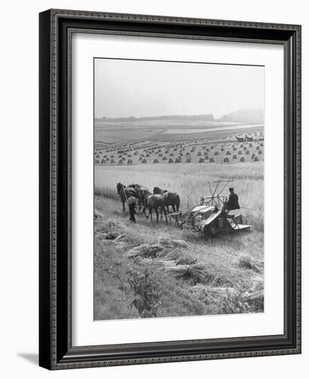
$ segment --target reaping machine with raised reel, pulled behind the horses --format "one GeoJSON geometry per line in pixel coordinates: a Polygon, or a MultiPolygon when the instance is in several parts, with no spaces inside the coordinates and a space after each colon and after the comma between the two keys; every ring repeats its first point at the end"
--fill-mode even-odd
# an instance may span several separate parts
{"type": "Polygon", "coordinates": [[[200,232],[204,237],[250,229],[251,225],[248,223],[246,216],[232,214],[232,211],[239,209],[239,206],[228,205],[228,198],[221,196],[223,189],[230,182],[215,181],[214,190],[208,183],[210,195],[202,196],[199,205],[188,211],[173,212],[170,216],[174,218],[175,223],[181,229],[186,227],[192,232],[200,232]],[[223,183],[223,187],[221,183],[223,183]]]}

